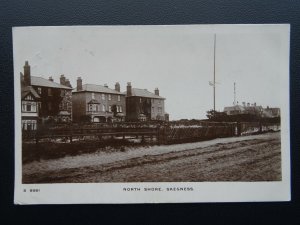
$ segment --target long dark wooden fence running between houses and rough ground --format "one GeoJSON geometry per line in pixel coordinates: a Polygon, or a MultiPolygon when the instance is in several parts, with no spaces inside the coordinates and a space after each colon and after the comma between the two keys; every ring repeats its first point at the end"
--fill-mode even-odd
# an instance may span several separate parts
{"type": "Polygon", "coordinates": [[[221,137],[250,135],[268,130],[279,130],[279,124],[262,123],[217,123],[202,122],[195,125],[182,124],[111,124],[90,126],[39,126],[36,131],[23,131],[23,140],[35,140],[38,143],[45,139],[65,139],[72,143],[85,137],[99,140],[107,139],[141,139],[151,140],[158,144],[173,144],[208,140],[221,137]]]}

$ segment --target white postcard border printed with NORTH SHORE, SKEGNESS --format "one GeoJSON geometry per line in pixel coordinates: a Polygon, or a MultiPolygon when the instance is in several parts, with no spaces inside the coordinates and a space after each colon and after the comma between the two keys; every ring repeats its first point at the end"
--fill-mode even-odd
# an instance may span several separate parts
{"type": "MultiPolygon", "coordinates": [[[[182,27],[186,25],[180,25],[182,27]]],[[[203,26],[213,32],[237,31],[247,28],[272,29],[282,35],[281,54],[281,149],[282,181],[280,182],[187,182],[187,183],[84,183],[84,184],[22,184],[21,160],[21,97],[19,69],[14,65],[15,87],[15,204],[77,204],[77,203],[174,203],[174,202],[253,202],[289,201],[290,195],[290,127],[289,127],[289,46],[290,25],[188,25],[203,26]],[[141,188],[127,192],[123,188],[141,188]],[[164,191],[146,192],[147,187],[164,191]],[[193,191],[166,191],[167,187],[192,187],[193,191]],[[30,188],[40,192],[29,192],[30,188]],[[23,189],[27,189],[24,193],[23,189]]],[[[113,26],[118,27],[118,26],[113,26]]],[[[124,27],[124,26],[120,26],[124,27]]],[[[18,28],[13,28],[13,33],[18,28]]],[[[22,28],[24,29],[24,28],[22,28]]],[[[254,29],[255,30],[255,29],[254,29]]],[[[252,32],[251,29],[249,29],[252,32]]],[[[14,37],[13,37],[14,38],[14,37]]],[[[18,54],[14,47],[14,55],[18,54]]]]}

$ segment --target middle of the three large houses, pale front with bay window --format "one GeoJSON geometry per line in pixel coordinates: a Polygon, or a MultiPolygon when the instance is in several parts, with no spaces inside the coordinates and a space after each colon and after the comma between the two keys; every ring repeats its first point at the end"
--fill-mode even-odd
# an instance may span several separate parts
{"type": "Polygon", "coordinates": [[[126,115],[125,94],[120,92],[120,84],[115,89],[106,84],[82,84],[77,79],[73,91],[73,120],[75,122],[113,122],[124,121],[126,115]]]}

